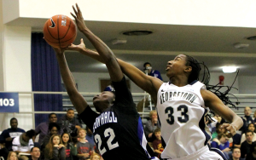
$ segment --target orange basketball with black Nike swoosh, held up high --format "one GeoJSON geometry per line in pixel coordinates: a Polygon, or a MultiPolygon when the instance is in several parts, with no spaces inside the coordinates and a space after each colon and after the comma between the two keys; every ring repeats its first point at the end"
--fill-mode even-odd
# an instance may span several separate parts
{"type": "Polygon", "coordinates": [[[66,48],[77,37],[77,26],[66,15],[55,15],[44,24],[44,39],[54,48],[66,48]]]}

